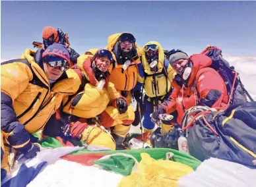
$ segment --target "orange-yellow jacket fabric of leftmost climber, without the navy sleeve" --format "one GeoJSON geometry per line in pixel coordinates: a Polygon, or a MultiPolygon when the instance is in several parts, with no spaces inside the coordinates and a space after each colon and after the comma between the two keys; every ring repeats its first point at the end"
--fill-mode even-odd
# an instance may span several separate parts
{"type": "Polygon", "coordinates": [[[48,88],[43,88],[29,82],[32,80],[33,74],[28,65],[24,63],[15,62],[1,65],[1,92],[4,92],[13,99],[13,108],[16,116],[18,117],[24,113],[31,103],[35,101],[28,112],[22,117],[18,117],[20,123],[24,124],[37,113],[36,117],[25,126],[25,129],[30,133],[38,132],[38,130],[44,128],[49,117],[61,105],[63,95],[75,94],[80,85],[80,79],[69,77],[69,72],[72,70],[67,70],[69,78],[60,80],[50,90],[49,81],[44,70],[34,61],[33,56],[35,53],[36,51],[26,49],[21,58],[28,60],[36,76],[48,88]]]}

